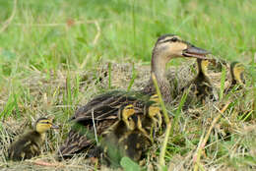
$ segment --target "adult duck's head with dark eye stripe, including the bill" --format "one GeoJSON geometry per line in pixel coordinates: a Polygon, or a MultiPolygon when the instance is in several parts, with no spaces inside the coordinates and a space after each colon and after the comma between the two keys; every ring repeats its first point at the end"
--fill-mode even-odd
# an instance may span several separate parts
{"type": "Polygon", "coordinates": [[[182,40],[174,34],[161,35],[155,44],[152,56],[152,69],[154,72],[165,68],[165,64],[172,58],[198,58],[207,59],[208,51],[196,47],[182,40]]]}

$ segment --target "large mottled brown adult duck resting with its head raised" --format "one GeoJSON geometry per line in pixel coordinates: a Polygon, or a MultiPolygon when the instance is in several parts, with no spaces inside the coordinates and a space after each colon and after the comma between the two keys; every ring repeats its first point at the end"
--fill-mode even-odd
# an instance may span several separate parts
{"type": "MultiPolygon", "coordinates": [[[[172,100],[170,85],[165,77],[166,63],[177,57],[207,59],[207,54],[209,54],[208,51],[174,34],[164,34],[158,38],[152,52],[151,76],[156,75],[164,103],[169,104],[172,100]]],[[[141,90],[111,90],[97,95],[86,105],[80,107],[70,121],[84,125],[89,132],[96,128],[96,135],[100,136],[109,126],[119,121],[117,113],[121,105],[133,104],[137,108],[144,108],[145,101],[149,101],[153,94],[156,94],[156,89],[151,77],[148,84],[141,90]]],[[[59,149],[59,156],[68,157],[87,151],[96,142],[91,138],[80,134],[78,130],[71,129],[59,149]]]]}

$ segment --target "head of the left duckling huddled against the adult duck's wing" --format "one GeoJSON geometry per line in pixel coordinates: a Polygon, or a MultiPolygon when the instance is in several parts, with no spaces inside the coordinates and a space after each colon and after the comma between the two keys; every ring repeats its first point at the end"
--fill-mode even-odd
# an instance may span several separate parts
{"type": "Polygon", "coordinates": [[[122,120],[129,130],[134,130],[136,123],[134,121],[135,109],[132,104],[123,105],[119,109],[119,119],[122,120]]]}

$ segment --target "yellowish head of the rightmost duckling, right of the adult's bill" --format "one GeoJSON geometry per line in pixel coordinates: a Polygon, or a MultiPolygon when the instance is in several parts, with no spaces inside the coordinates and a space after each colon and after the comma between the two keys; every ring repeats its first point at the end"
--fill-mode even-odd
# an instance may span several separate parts
{"type": "Polygon", "coordinates": [[[243,72],[245,68],[244,65],[239,62],[232,62],[230,64],[230,72],[232,77],[232,82],[235,84],[244,84],[243,72]]]}

